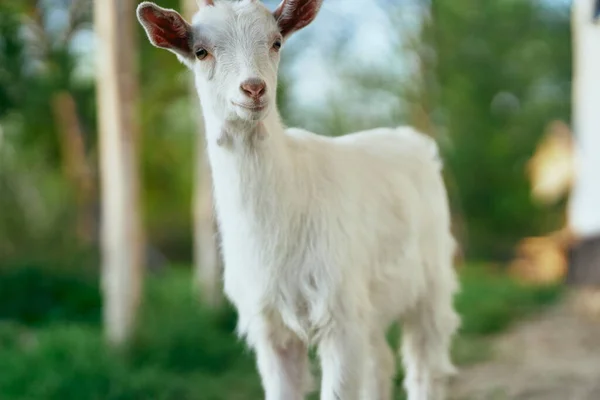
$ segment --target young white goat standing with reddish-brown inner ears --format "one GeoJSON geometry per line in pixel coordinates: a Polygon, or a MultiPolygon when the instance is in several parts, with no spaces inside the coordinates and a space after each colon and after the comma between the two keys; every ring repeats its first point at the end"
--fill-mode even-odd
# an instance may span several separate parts
{"type": "Polygon", "coordinates": [[[285,129],[275,105],[282,43],[322,0],[199,0],[188,24],[144,2],[152,44],[195,74],[225,258],[225,291],[255,350],[266,398],[304,398],[317,344],[321,399],[388,400],[403,322],[410,400],[445,397],[459,318],[437,147],[412,128],[326,138],[285,129]]]}

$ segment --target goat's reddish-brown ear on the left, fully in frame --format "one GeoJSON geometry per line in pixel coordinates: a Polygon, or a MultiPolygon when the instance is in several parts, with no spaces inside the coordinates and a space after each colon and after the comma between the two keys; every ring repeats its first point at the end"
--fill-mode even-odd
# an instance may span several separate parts
{"type": "Polygon", "coordinates": [[[154,46],[184,58],[193,56],[192,27],[177,11],[145,1],[137,8],[137,17],[154,46]]]}

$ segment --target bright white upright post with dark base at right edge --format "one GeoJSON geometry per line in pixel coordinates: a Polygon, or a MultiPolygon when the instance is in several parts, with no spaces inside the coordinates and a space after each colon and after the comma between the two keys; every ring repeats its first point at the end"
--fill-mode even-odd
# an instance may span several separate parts
{"type": "Polygon", "coordinates": [[[577,311],[600,316],[600,2],[574,0],[573,131],[575,179],[569,227],[575,237],[569,282],[577,311]]]}

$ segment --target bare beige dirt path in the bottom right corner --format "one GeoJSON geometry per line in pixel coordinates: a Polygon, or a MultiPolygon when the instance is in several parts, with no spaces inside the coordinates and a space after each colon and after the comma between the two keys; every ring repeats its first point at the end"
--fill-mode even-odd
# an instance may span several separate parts
{"type": "Polygon", "coordinates": [[[453,400],[600,400],[600,323],[566,306],[517,324],[494,356],[463,368],[453,400]]]}

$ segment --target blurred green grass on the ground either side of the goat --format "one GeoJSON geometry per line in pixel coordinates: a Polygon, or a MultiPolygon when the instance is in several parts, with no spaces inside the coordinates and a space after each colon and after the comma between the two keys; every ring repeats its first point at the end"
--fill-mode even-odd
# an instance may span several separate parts
{"type": "MultiPolygon", "coordinates": [[[[95,297],[98,287],[89,275],[76,274],[63,282],[47,271],[29,271],[18,275],[26,277],[27,282],[21,282],[15,274],[0,269],[0,288],[8,287],[8,281],[13,285],[13,297],[0,292],[0,303],[6,303],[0,304],[0,399],[262,398],[252,356],[232,333],[235,313],[229,308],[214,313],[199,307],[188,273],[171,271],[147,279],[139,329],[132,345],[122,352],[109,351],[103,344],[99,297],[95,297]],[[44,285],[40,280],[53,283],[44,285]],[[87,289],[73,289],[73,280],[87,289]],[[19,286],[39,293],[21,293],[14,289],[19,286]],[[84,317],[78,314],[82,308],[76,301],[77,290],[87,302],[84,317]],[[28,296],[44,301],[33,308],[18,304],[27,302],[28,296]],[[49,311],[46,315],[40,310],[49,311]]],[[[463,325],[454,346],[459,364],[485,358],[490,334],[552,303],[560,294],[558,288],[521,286],[481,268],[462,271],[462,283],[456,305],[463,325]]],[[[398,388],[401,381],[399,372],[398,388]]],[[[400,390],[397,396],[402,398],[400,390]]]]}

